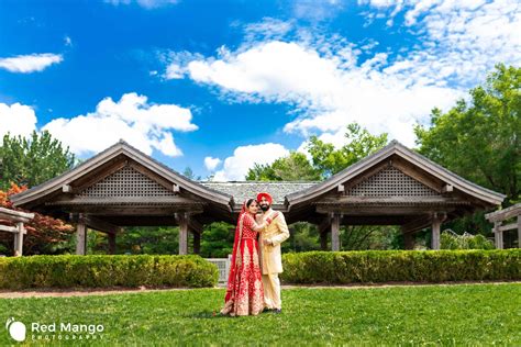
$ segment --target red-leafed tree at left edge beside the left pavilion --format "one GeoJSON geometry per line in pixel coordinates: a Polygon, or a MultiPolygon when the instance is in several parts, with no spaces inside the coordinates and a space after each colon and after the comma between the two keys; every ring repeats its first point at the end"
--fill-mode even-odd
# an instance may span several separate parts
{"type": "MultiPolygon", "coordinates": [[[[26,187],[19,187],[14,183],[8,191],[0,190],[0,206],[15,211],[31,212],[21,209],[15,209],[9,197],[26,190],[26,187]]],[[[0,224],[12,225],[9,221],[0,220],[0,224]]],[[[56,253],[56,248],[63,248],[70,239],[70,234],[74,227],[40,213],[34,213],[34,219],[24,224],[27,234],[23,240],[23,254],[46,254],[56,253]],[[62,246],[62,247],[60,247],[62,246]]],[[[13,235],[11,233],[0,233],[0,242],[9,245],[9,251],[13,249],[13,235]]]]}

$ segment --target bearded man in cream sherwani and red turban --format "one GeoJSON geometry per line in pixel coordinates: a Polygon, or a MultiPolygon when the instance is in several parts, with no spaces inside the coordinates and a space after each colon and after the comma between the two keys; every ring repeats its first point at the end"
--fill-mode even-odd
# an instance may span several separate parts
{"type": "Polygon", "coordinates": [[[268,310],[274,310],[275,313],[280,313],[282,309],[280,280],[278,278],[278,275],[282,272],[280,244],[289,237],[289,230],[282,213],[271,210],[271,195],[264,192],[259,193],[257,202],[264,211],[264,216],[273,221],[260,233],[259,238],[264,305],[268,310]]]}

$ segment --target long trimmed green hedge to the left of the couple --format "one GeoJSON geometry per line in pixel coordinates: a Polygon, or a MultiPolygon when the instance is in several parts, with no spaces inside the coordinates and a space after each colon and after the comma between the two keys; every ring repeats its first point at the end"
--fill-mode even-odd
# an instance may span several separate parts
{"type": "Polygon", "coordinates": [[[0,258],[0,289],[214,287],[215,265],[199,256],[32,256],[0,258]]]}

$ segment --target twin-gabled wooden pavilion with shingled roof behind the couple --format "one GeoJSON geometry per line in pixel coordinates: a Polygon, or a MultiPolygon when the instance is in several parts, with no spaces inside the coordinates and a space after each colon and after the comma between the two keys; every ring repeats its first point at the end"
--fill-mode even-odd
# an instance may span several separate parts
{"type": "Polygon", "coordinates": [[[318,225],[321,245],[340,249],[342,225],[399,225],[406,248],[412,235],[432,228],[440,248],[443,222],[499,206],[503,194],[458,177],[398,142],[321,182],[198,182],[128,143],[113,146],[47,182],[13,195],[14,205],[77,225],[77,254],[85,255],[87,228],[109,235],[115,251],[124,226],[179,226],[179,254],[188,233],[198,253],[204,224],[234,224],[242,203],[257,192],[274,197],[288,224],[318,225]]]}

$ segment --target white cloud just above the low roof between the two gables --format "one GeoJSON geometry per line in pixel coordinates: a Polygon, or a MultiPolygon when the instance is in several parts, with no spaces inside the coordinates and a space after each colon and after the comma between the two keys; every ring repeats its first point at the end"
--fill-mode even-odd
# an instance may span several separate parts
{"type": "Polygon", "coordinates": [[[222,170],[215,172],[214,181],[243,181],[254,164],[269,165],[276,159],[288,156],[289,150],[279,144],[240,146],[233,156],[224,159],[222,170]]]}

